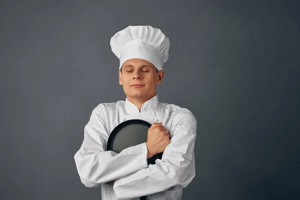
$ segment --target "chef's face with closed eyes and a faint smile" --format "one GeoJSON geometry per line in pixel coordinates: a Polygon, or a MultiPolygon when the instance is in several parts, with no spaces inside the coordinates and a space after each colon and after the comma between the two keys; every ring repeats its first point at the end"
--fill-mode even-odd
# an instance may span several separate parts
{"type": "Polygon", "coordinates": [[[118,75],[127,96],[142,98],[155,94],[156,84],[162,82],[163,70],[156,72],[151,62],[133,58],[123,63],[118,75]]]}

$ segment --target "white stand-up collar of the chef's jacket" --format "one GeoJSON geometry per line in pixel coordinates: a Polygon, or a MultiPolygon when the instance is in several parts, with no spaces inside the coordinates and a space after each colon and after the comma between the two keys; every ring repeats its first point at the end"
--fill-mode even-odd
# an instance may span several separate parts
{"type": "MultiPolygon", "coordinates": [[[[156,107],[158,102],[159,102],[158,96],[157,96],[157,93],[155,93],[155,95],[152,98],[145,101],[141,105],[140,112],[156,107]]],[[[125,111],[127,114],[139,113],[137,106],[135,104],[133,104],[131,101],[129,101],[127,98],[125,100],[125,111]]]]}

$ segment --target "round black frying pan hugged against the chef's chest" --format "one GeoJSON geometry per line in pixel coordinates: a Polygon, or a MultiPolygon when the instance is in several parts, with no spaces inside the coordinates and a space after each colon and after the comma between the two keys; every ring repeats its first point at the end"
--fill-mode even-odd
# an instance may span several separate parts
{"type": "MultiPolygon", "coordinates": [[[[108,136],[106,149],[121,152],[123,149],[147,141],[148,129],[151,124],[141,119],[130,119],[118,124],[108,136]]],[[[148,164],[155,164],[156,159],[161,159],[162,153],[157,153],[147,159],[148,164]]],[[[145,196],[140,199],[146,199],[145,196]]]]}

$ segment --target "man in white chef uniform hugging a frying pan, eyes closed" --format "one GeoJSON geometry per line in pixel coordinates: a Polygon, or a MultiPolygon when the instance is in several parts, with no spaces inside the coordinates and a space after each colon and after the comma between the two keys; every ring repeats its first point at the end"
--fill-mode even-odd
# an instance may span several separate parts
{"type": "Polygon", "coordinates": [[[194,142],[197,122],[192,112],[159,102],[163,63],[169,39],[158,29],[128,26],[110,40],[119,58],[119,84],[125,100],[100,103],[84,127],[84,139],[74,159],[81,182],[101,185],[102,200],[181,199],[182,188],[195,176],[194,142]],[[119,123],[142,119],[151,123],[147,141],[116,153],[106,150],[109,133],[119,123]],[[147,158],[163,152],[155,164],[147,158]]]}

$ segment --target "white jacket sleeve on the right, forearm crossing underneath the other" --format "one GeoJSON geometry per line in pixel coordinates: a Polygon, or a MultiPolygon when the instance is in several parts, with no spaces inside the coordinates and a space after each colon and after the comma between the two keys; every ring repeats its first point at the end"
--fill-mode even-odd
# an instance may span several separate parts
{"type": "Polygon", "coordinates": [[[186,187],[195,176],[194,144],[197,122],[194,115],[184,109],[173,120],[170,143],[162,158],[114,181],[116,198],[131,199],[160,191],[186,187]]]}

